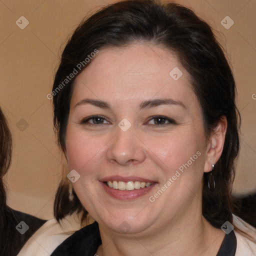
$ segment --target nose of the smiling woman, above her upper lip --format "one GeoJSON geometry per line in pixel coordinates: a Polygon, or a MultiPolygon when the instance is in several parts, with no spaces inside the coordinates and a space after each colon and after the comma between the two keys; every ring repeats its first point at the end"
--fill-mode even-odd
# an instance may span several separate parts
{"type": "Polygon", "coordinates": [[[145,157],[145,145],[134,134],[133,129],[123,131],[117,127],[117,132],[110,140],[107,149],[108,161],[124,166],[143,162],[145,157]]]}

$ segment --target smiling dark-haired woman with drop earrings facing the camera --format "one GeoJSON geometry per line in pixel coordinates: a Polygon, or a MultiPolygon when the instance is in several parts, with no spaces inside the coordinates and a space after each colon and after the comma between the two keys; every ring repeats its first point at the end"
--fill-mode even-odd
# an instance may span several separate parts
{"type": "Polygon", "coordinates": [[[68,41],[49,96],[68,163],[55,217],[95,219],[52,255],[255,253],[255,230],[232,215],[234,79],[191,10],[153,0],[99,10],[68,41]]]}

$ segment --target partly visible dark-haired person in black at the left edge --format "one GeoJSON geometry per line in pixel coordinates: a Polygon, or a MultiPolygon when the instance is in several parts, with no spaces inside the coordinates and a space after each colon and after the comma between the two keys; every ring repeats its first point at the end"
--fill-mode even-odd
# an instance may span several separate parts
{"type": "Polygon", "coordinates": [[[15,256],[45,220],[11,209],[6,204],[4,175],[11,162],[12,139],[0,108],[0,255],[15,256]]]}

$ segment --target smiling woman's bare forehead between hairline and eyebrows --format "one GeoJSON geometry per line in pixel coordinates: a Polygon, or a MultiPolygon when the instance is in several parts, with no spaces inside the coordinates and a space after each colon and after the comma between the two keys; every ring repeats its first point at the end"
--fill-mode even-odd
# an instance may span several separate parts
{"type": "Polygon", "coordinates": [[[99,50],[76,77],[71,105],[84,96],[128,103],[141,97],[168,95],[175,100],[189,94],[194,96],[189,74],[172,52],[148,43],[132,43],[99,50]]]}

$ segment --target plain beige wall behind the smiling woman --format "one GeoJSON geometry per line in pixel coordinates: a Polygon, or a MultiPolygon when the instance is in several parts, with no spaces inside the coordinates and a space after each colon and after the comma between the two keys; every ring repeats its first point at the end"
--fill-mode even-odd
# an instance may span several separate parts
{"type": "MultiPolygon", "coordinates": [[[[0,106],[7,115],[13,139],[13,160],[7,176],[8,204],[42,218],[52,217],[61,157],[54,143],[51,101],[53,74],[63,43],[91,10],[110,0],[0,0],[0,106]],[[29,24],[20,29],[15,21],[29,24]],[[60,46],[62,45],[62,46],[60,46]],[[28,127],[23,127],[23,118],[28,127]],[[18,125],[18,124],[19,125],[18,125]],[[16,125],[17,124],[17,125],[16,125]]],[[[255,136],[255,0],[180,0],[220,31],[231,61],[241,111],[241,154],[235,193],[256,189],[255,136]],[[234,24],[225,29],[220,21],[234,24]]]]}

